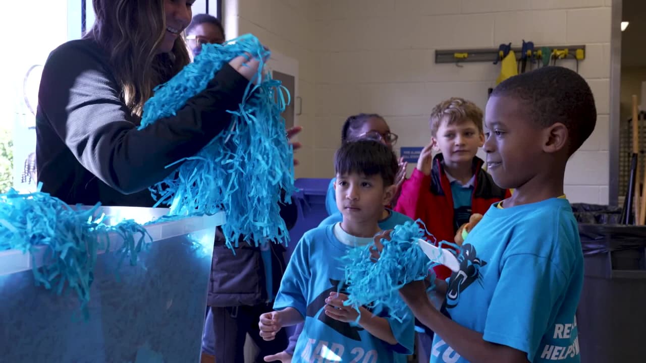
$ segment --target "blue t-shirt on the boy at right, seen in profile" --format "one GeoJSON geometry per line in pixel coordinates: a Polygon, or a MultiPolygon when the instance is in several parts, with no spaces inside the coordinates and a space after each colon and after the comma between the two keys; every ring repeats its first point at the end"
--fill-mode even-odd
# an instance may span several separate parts
{"type": "MultiPolygon", "coordinates": [[[[503,205],[504,207],[504,205],[503,205]]],[[[499,209],[468,234],[443,313],[530,362],[580,362],[575,313],[583,287],[579,230],[567,199],[499,209]]],[[[441,337],[430,361],[467,362],[441,337]]]]}

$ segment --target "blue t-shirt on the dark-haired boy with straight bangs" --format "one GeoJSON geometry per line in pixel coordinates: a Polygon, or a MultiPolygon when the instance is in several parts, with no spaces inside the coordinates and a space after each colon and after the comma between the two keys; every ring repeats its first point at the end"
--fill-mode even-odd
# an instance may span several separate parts
{"type": "MultiPolygon", "coordinates": [[[[333,233],[334,225],[307,231],[298,242],[280,283],[274,309],[293,307],[305,316],[293,363],[310,362],[404,362],[413,351],[413,315],[403,322],[390,318],[387,311],[373,311],[386,318],[398,344],[374,337],[356,324],[339,322],[324,313],[329,293],[339,291],[344,265],[338,258],[348,246],[333,233]],[[399,353],[399,354],[398,354],[399,353]],[[316,360],[319,359],[319,360],[316,360]],[[327,359],[327,360],[326,360],[327,359]]],[[[344,288],[341,286],[340,291],[344,288]]]]}

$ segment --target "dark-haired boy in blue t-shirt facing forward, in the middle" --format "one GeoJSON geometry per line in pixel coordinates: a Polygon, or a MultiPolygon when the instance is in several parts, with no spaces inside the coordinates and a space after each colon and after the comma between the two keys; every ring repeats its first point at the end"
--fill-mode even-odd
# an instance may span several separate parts
{"type": "Polygon", "coordinates": [[[282,327],[304,320],[293,363],[405,362],[413,350],[412,314],[398,322],[387,310],[344,306],[344,265],[339,261],[348,249],[372,243],[381,231],[397,158],[377,141],[355,141],[337,151],[335,169],[342,221],[312,229],[298,242],[276,296],[276,311],[260,316],[260,336],[271,340],[282,327]]]}

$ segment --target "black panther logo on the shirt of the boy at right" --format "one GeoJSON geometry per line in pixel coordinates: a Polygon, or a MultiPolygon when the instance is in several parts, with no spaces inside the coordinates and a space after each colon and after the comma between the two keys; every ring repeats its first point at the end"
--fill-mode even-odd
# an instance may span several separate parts
{"type": "Polygon", "coordinates": [[[451,275],[448,290],[446,291],[446,299],[444,300],[444,307],[457,306],[460,300],[460,293],[475,281],[481,280],[482,275],[480,274],[480,269],[486,265],[485,261],[477,257],[475,247],[471,244],[464,244],[462,246],[457,260],[460,262],[460,271],[454,272],[451,275]]]}

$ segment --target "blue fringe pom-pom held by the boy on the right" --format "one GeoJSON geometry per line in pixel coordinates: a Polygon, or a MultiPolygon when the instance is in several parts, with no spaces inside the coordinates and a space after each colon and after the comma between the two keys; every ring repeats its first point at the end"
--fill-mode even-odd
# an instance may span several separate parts
{"type": "MultiPolygon", "coordinates": [[[[423,223],[417,220],[418,223],[423,223]]],[[[432,267],[436,262],[429,260],[417,240],[426,236],[424,228],[416,222],[406,222],[395,226],[390,241],[382,238],[383,249],[379,260],[371,258],[374,244],[355,247],[341,258],[345,267],[345,280],[348,285],[348,300],[345,304],[358,309],[365,306],[373,309],[388,309],[390,315],[401,321],[410,313],[399,296],[399,289],[409,282],[424,280],[430,276],[435,288],[435,273],[432,267]]]]}

